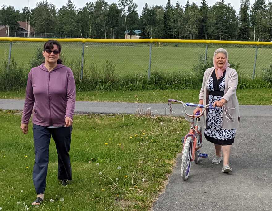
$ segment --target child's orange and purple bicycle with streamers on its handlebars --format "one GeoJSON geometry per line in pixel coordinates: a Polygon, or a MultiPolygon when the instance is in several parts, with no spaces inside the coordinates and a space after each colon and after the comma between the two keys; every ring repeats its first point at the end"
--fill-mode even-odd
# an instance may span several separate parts
{"type": "Polygon", "coordinates": [[[179,100],[169,99],[168,105],[170,109],[170,114],[173,114],[172,105],[171,102],[178,102],[183,105],[183,110],[185,114],[190,118],[190,131],[188,134],[185,135],[181,139],[181,142],[183,143],[183,150],[182,150],[182,161],[181,161],[181,176],[183,180],[187,180],[189,177],[190,169],[191,169],[191,161],[194,161],[194,163],[198,163],[200,158],[207,158],[208,154],[200,153],[202,144],[202,128],[200,125],[198,125],[198,122],[200,120],[200,117],[204,114],[205,110],[207,108],[209,109],[219,109],[212,106],[212,104],[207,104],[206,106],[201,104],[195,104],[195,103],[184,103],[179,100]],[[187,114],[186,112],[186,106],[190,107],[198,107],[202,108],[202,112],[199,111],[196,114],[187,114]],[[195,123],[196,118],[196,123],[195,123]]]}

